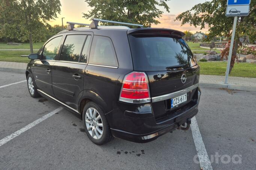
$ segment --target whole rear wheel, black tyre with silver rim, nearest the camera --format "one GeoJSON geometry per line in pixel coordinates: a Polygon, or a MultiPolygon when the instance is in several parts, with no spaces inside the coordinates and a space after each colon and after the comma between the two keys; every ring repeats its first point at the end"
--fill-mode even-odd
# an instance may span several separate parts
{"type": "Polygon", "coordinates": [[[112,134],[101,106],[88,102],[83,109],[83,124],[87,136],[96,145],[110,141],[112,134]]]}

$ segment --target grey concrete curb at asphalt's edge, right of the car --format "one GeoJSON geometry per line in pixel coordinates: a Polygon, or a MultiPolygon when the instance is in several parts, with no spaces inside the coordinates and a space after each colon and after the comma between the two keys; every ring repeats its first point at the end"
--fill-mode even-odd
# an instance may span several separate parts
{"type": "Polygon", "coordinates": [[[201,87],[225,88],[230,90],[243,90],[256,92],[256,86],[243,86],[237,84],[224,84],[224,83],[199,83],[201,87]]]}

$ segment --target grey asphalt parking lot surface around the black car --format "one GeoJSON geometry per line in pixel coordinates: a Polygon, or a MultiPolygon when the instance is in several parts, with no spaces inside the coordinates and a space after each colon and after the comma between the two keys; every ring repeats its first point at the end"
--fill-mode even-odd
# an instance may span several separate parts
{"type": "Polygon", "coordinates": [[[175,130],[149,143],[112,139],[97,146],[87,138],[79,115],[45,98],[30,97],[23,80],[25,74],[0,71],[1,170],[200,170],[207,159],[209,169],[256,169],[256,92],[201,87],[196,115],[200,132],[175,130]],[[42,120],[49,113],[52,116],[42,120]],[[38,119],[42,121],[14,137],[38,119]],[[202,148],[207,154],[199,162],[202,148]]]}

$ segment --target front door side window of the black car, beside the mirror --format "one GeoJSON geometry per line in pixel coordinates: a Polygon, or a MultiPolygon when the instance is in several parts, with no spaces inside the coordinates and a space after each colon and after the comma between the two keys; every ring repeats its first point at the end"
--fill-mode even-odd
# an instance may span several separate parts
{"type": "Polygon", "coordinates": [[[42,60],[54,60],[59,50],[62,36],[53,38],[44,46],[42,60]]]}

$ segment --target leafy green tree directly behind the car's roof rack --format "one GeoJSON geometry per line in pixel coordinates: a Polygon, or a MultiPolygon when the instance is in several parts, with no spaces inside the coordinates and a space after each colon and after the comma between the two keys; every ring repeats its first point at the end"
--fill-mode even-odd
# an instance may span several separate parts
{"type": "Polygon", "coordinates": [[[139,23],[150,27],[152,23],[160,23],[157,18],[162,16],[163,11],[157,7],[163,6],[170,12],[167,1],[169,0],[85,0],[92,9],[83,13],[83,17],[139,23]]]}

